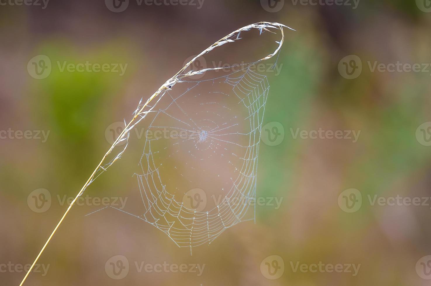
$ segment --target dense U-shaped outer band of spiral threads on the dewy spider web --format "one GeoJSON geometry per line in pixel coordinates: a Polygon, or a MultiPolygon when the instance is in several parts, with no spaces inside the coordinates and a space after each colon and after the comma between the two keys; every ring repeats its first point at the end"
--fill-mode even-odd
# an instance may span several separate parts
{"type": "MultiPolygon", "coordinates": [[[[233,87],[232,93],[237,96],[238,103],[243,104],[249,112],[248,117],[244,118],[244,120],[250,122],[250,130],[247,133],[230,133],[232,125],[230,126],[226,122],[214,130],[202,131],[193,123],[192,119],[188,122],[180,121],[178,127],[175,127],[175,129],[191,132],[191,136],[181,142],[187,140],[193,140],[194,142],[212,140],[215,146],[219,145],[217,143],[219,141],[225,142],[227,145],[234,144],[238,146],[239,143],[223,140],[223,137],[232,134],[248,137],[248,146],[240,146],[240,148],[244,149],[244,153],[243,157],[241,157],[243,164],[239,169],[239,174],[236,179],[232,180],[231,189],[219,205],[209,211],[199,212],[184,206],[184,201],[175,199],[175,195],[169,193],[169,190],[163,184],[163,178],[158,171],[159,165],[153,158],[154,152],[157,152],[157,149],[152,146],[153,140],[146,140],[145,143],[141,159],[143,174],[137,174],[142,203],[145,208],[144,214],[139,218],[162,230],[179,247],[194,247],[204,243],[211,243],[224,230],[243,221],[244,215],[250,206],[256,205],[253,202],[256,200],[259,140],[269,84],[265,76],[250,71],[250,68],[247,68],[244,75],[238,78],[232,78],[230,75],[226,76],[225,83],[233,87]],[[196,129],[185,129],[191,126],[196,127],[196,129]],[[166,214],[169,214],[171,218],[177,218],[177,220],[170,221],[166,214]]],[[[195,86],[198,84],[199,82],[195,86]]],[[[193,87],[190,90],[192,89],[193,87]]],[[[184,94],[181,96],[184,96],[184,94]]],[[[181,96],[172,100],[171,103],[180,110],[182,108],[177,101],[181,96]]],[[[171,104],[168,108],[171,107],[171,104]]],[[[155,119],[162,113],[169,115],[166,109],[159,110],[155,119]]],[[[184,115],[186,115],[185,112],[184,115]]],[[[150,125],[150,128],[152,127],[150,125]]],[[[181,144],[181,142],[178,144],[181,144]]],[[[233,153],[232,155],[238,156],[233,153]]]]}

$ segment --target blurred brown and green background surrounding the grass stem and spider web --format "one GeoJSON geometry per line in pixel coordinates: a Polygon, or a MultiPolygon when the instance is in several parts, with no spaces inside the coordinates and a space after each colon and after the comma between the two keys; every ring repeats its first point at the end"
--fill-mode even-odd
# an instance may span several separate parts
{"type": "MultiPolygon", "coordinates": [[[[84,203],[25,285],[429,285],[431,2],[156,3],[0,0],[0,284],[19,285],[63,199],[109,148],[111,124],[130,118],[188,57],[268,21],[297,30],[285,30],[280,73],[268,75],[264,123],[281,125],[283,140],[262,140],[259,154],[257,196],[282,199],[279,208],[258,206],[256,224],[238,224],[191,256],[128,215],[84,217],[97,209],[84,203]],[[52,62],[49,75],[31,72],[33,62],[47,70],[40,55],[52,62]],[[56,64],[87,61],[127,68],[61,72],[56,64]],[[130,264],[121,280],[109,274],[110,262],[124,266],[116,255],[130,264]],[[135,265],[165,261],[205,268],[198,276],[135,265]]],[[[128,165],[120,160],[85,194],[131,198],[128,165]]]]}

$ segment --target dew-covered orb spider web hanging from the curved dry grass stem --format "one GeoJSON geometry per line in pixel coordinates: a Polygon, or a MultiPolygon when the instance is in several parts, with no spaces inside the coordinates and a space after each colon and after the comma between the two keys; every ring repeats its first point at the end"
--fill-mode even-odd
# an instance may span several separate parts
{"type": "MultiPolygon", "coordinates": [[[[262,120],[265,112],[265,103],[268,96],[269,84],[265,76],[252,72],[250,68],[238,76],[234,73],[222,78],[212,80],[212,86],[217,91],[209,92],[215,102],[206,102],[207,96],[203,93],[187,96],[193,93],[201,83],[197,82],[193,87],[187,88],[187,92],[178,97],[169,93],[169,103],[166,108],[159,109],[151,122],[148,131],[153,128],[164,128],[169,131],[179,130],[188,134],[187,138],[176,140],[172,148],[160,150],[160,144],[154,144],[154,140],[146,139],[144,152],[141,158],[142,174],[136,174],[142,203],[145,212],[140,216],[148,223],[166,233],[180,247],[194,247],[204,243],[211,243],[224,230],[235,224],[247,220],[250,206],[256,205],[256,171],[259,153],[259,140],[262,128],[262,120]],[[231,87],[230,93],[225,93],[225,87],[231,87]],[[194,119],[193,115],[187,113],[184,103],[188,98],[199,102],[200,110],[193,115],[200,115],[194,119]],[[201,98],[202,97],[202,98],[201,98]],[[228,109],[222,115],[209,112],[205,106],[211,109],[220,105],[223,99],[231,97],[236,105],[247,111],[245,117],[237,116],[237,111],[228,109]],[[176,115],[172,115],[179,111],[176,115]],[[229,116],[234,115],[234,116],[229,116]],[[182,119],[185,118],[185,119],[182,119]],[[171,124],[166,124],[170,121],[171,124]],[[165,125],[160,126],[159,123],[165,125]],[[244,129],[243,129],[244,128],[244,129]],[[190,208],[193,204],[184,202],[190,196],[177,198],[171,191],[175,184],[170,183],[172,178],[164,177],[160,169],[162,158],[172,157],[173,153],[186,151],[187,163],[185,168],[195,176],[202,176],[205,165],[213,164],[212,156],[223,157],[222,168],[233,169],[235,177],[230,177],[226,182],[228,188],[222,201],[208,211],[197,211],[190,208]],[[234,165],[234,162],[239,165],[234,165]],[[195,168],[197,165],[201,168],[195,168]]],[[[194,107],[193,107],[194,108],[194,107]]],[[[190,109],[190,107],[188,108],[190,109]]],[[[148,132],[147,131],[147,132],[148,132]]],[[[171,132],[169,132],[171,134],[171,132]]],[[[166,138],[172,139],[172,136],[166,138]]],[[[166,140],[165,139],[165,140],[166,140]]],[[[176,167],[174,167],[176,168],[176,167]]],[[[220,177],[217,173],[209,172],[205,176],[220,177]]],[[[194,176],[191,176],[194,177],[194,176]]],[[[192,180],[189,180],[192,182],[192,180]]],[[[175,188],[175,187],[174,187],[175,188]]],[[[195,206],[202,198],[194,196],[195,206]]],[[[255,211],[253,211],[253,218],[255,211]]]]}

